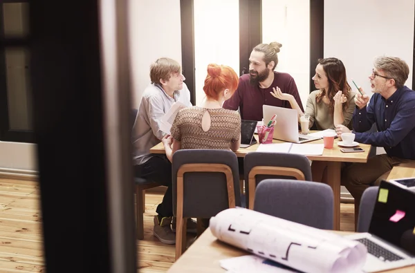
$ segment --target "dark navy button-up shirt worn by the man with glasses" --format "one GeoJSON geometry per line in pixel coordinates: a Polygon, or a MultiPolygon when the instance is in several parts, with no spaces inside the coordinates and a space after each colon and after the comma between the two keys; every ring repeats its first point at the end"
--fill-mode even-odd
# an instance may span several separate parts
{"type": "Polygon", "coordinates": [[[415,91],[403,86],[385,100],[372,95],[367,107],[353,113],[356,141],[383,147],[388,156],[415,160],[415,91]],[[376,122],[378,132],[366,132],[376,122]]]}

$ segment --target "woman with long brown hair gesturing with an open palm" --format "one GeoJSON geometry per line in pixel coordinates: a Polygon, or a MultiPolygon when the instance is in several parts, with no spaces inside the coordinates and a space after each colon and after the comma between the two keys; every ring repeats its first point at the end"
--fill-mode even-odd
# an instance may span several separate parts
{"type": "MultiPolygon", "coordinates": [[[[346,68],[342,61],[333,57],[318,59],[312,79],[318,90],[308,95],[306,114],[310,115],[309,127],[314,122],[318,130],[334,129],[337,124],[349,126],[355,109],[356,93],[351,91],[347,83],[346,68]]],[[[282,93],[278,87],[271,94],[279,100],[288,100],[291,108],[302,114],[292,95],[282,93]]]]}

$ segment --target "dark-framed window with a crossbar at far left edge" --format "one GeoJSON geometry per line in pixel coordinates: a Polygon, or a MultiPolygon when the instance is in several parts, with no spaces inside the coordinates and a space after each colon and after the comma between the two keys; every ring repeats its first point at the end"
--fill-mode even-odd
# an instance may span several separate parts
{"type": "Polygon", "coordinates": [[[28,1],[0,6],[0,140],[33,142],[28,1]]]}

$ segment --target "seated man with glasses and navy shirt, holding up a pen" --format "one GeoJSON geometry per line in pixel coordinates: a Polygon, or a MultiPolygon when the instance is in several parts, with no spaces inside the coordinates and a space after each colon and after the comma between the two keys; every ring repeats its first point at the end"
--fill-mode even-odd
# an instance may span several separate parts
{"type": "MultiPolygon", "coordinates": [[[[369,158],[367,163],[354,163],[342,171],[342,185],[355,198],[357,219],[360,198],[371,185],[386,179],[394,166],[415,167],[415,91],[404,86],[409,67],[398,57],[378,57],[369,76],[370,98],[356,95],[353,113],[353,131],[356,142],[383,147],[386,154],[369,158]],[[367,102],[369,104],[367,105],[367,102]],[[376,122],[377,132],[367,132],[376,122]]],[[[336,126],[338,137],[350,132],[336,126]]]]}

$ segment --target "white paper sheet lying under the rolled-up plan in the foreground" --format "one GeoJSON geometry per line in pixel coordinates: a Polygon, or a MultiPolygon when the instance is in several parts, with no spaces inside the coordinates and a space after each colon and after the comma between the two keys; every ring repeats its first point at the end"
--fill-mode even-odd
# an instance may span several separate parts
{"type": "Polygon", "coordinates": [[[275,261],[267,260],[256,255],[239,256],[235,258],[226,258],[219,261],[221,267],[228,270],[228,273],[292,273],[299,272],[292,268],[286,267],[275,261]]]}

